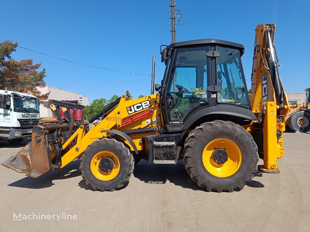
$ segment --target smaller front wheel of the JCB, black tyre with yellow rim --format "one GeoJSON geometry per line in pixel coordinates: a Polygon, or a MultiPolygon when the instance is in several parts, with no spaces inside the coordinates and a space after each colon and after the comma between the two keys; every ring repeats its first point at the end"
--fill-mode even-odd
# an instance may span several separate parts
{"type": "Polygon", "coordinates": [[[114,191],[129,180],[134,170],[130,150],[115,139],[94,141],[85,149],[80,160],[82,178],[94,190],[114,191]]]}

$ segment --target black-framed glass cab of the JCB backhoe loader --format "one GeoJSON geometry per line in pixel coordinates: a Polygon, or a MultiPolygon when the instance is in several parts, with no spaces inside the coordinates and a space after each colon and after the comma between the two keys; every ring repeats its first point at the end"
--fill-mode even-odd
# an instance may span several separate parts
{"type": "Polygon", "coordinates": [[[193,129],[214,119],[241,125],[256,120],[241,65],[243,53],[243,45],[215,39],[178,42],[161,51],[166,131],[193,129]]]}

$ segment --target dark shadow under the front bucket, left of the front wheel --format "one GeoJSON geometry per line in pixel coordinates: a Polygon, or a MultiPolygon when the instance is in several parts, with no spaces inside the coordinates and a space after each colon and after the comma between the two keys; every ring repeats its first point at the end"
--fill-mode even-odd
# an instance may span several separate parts
{"type": "Polygon", "coordinates": [[[8,186],[32,189],[48,188],[54,185],[52,182],[53,180],[68,179],[80,176],[81,171],[79,170],[79,166],[80,160],[77,159],[62,169],[57,168],[37,178],[27,176],[23,179],[8,184],[8,186]]]}

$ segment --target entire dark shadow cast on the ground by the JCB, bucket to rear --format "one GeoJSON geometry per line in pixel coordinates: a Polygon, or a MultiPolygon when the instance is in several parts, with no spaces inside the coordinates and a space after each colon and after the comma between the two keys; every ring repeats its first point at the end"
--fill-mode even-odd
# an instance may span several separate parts
{"type": "MultiPolygon", "coordinates": [[[[8,186],[20,187],[20,188],[30,188],[30,189],[40,189],[48,188],[54,185],[53,180],[68,179],[81,175],[79,170],[80,160],[76,159],[69,163],[66,167],[62,169],[55,169],[43,174],[38,178],[25,177],[18,181],[15,181],[8,186]]],[[[183,160],[179,160],[176,165],[173,164],[148,164],[145,160],[141,160],[139,164],[135,166],[133,175],[139,180],[143,181],[145,184],[165,184],[168,180],[177,186],[183,188],[189,188],[196,191],[207,191],[205,188],[199,187],[187,174],[183,160]]],[[[254,177],[261,177],[262,173],[257,171],[254,177]]],[[[121,188],[117,190],[122,190],[126,188],[128,182],[121,188]]],[[[85,180],[82,179],[78,186],[86,190],[93,190],[93,188],[86,184],[85,180]]],[[[259,181],[252,180],[247,183],[248,187],[262,188],[264,185],[259,181]]]]}

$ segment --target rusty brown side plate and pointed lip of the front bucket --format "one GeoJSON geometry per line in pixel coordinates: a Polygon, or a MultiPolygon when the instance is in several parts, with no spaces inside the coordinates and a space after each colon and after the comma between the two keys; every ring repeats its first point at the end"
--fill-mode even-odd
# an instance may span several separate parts
{"type": "Polygon", "coordinates": [[[38,177],[51,170],[53,166],[46,147],[44,128],[34,126],[32,141],[2,165],[30,177],[38,177]]]}

